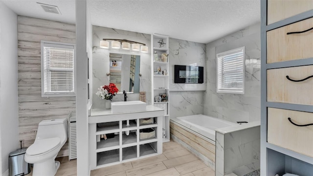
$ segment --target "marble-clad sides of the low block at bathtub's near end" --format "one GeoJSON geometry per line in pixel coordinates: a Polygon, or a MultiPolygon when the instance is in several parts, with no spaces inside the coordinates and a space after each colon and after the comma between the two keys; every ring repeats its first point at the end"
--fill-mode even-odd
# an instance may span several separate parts
{"type": "Polygon", "coordinates": [[[260,168],[260,126],[216,132],[216,176],[243,176],[260,168]]]}

